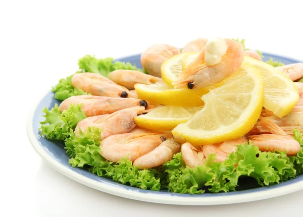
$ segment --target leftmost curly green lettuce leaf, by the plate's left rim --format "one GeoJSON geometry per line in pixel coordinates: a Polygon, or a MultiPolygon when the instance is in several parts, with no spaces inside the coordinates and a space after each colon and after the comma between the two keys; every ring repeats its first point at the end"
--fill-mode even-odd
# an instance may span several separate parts
{"type": "Polygon", "coordinates": [[[47,139],[65,140],[73,132],[77,123],[86,118],[81,105],[71,104],[63,112],[60,111],[57,103],[51,110],[45,107],[42,111],[45,114],[42,115],[45,120],[40,122],[40,135],[47,139]]]}

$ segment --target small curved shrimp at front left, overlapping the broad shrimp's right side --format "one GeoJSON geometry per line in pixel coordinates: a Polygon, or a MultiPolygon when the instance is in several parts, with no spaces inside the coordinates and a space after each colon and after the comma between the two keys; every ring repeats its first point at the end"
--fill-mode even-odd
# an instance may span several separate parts
{"type": "Polygon", "coordinates": [[[138,157],[133,166],[138,169],[149,169],[163,165],[166,161],[169,161],[175,153],[180,151],[181,145],[174,139],[168,139],[162,142],[154,150],[138,157]]]}

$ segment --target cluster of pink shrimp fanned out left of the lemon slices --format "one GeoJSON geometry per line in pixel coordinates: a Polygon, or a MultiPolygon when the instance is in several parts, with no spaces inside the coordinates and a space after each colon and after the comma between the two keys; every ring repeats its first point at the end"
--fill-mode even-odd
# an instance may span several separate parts
{"type": "MultiPolygon", "coordinates": [[[[178,53],[175,51],[174,53],[178,53]]],[[[170,57],[170,56],[168,56],[170,57]]],[[[116,70],[109,79],[93,73],[79,73],[72,77],[74,88],[91,95],[78,95],[65,99],[60,111],[81,104],[87,118],[78,122],[74,133],[86,132],[88,127],[101,130],[100,155],[118,162],[124,157],[139,169],[163,165],[181,149],[170,131],[154,131],[136,126],[134,118],[149,112],[156,105],[138,99],[134,85],[163,83],[159,77],[134,70],[116,70]]]]}

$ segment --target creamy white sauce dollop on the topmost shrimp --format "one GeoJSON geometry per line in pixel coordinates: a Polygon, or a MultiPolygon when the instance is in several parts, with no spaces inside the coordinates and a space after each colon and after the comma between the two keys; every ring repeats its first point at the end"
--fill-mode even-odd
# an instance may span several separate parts
{"type": "Polygon", "coordinates": [[[223,38],[214,38],[206,43],[204,61],[206,65],[213,66],[220,63],[227,51],[227,44],[223,38]]]}

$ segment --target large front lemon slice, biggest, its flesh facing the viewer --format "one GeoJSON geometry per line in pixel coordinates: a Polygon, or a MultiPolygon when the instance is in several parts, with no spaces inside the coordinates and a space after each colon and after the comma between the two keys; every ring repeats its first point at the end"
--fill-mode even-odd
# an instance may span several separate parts
{"type": "Polygon", "coordinates": [[[243,63],[241,69],[225,79],[221,87],[202,99],[205,107],[172,133],[180,142],[213,144],[244,136],[258,121],[264,101],[260,72],[243,63]]]}

